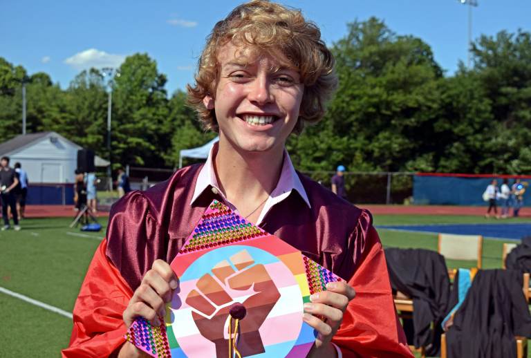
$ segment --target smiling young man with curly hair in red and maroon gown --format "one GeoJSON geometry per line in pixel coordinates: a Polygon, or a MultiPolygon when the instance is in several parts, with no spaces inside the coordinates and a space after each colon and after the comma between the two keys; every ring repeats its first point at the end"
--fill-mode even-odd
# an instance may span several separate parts
{"type": "Polygon", "coordinates": [[[216,199],[348,281],[305,305],[318,333],[309,357],[412,357],[371,215],[297,173],[284,149],[322,117],[335,84],[333,57],[299,11],[252,1],[218,22],[189,100],[220,140],[205,164],[114,205],[63,355],[140,355],[124,332],[139,316],[160,324],[178,288],[168,263],[216,199]]]}

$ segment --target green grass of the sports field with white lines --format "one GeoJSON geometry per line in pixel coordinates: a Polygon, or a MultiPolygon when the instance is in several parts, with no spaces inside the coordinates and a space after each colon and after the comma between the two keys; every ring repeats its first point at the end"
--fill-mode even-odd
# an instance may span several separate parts
{"type": "MultiPolygon", "coordinates": [[[[514,222],[515,219],[507,220],[514,222]]],[[[524,219],[519,219],[523,221],[524,219]]],[[[100,220],[104,223],[104,220],[100,220]]],[[[26,219],[22,230],[0,232],[0,287],[72,312],[93,253],[104,235],[70,229],[69,218],[26,219]]],[[[485,223],[469,216],[375,216],[375,225],[485,223]]],[[[494,221],[492,221],[494,223],[494,221]]],[[[499,221],[496,221],[499,223],[499,221]]],[[[385,247],[437,247],[435,234],[380,229],[385,247]]],[[[501,241],[485,240],[483,265],[501,267],[501,241]]],[[[449,267],[470,263],[448,261],[449,267]]],[[[58,357],[71,320],[0,292],[0,357],[58,357]]]]}

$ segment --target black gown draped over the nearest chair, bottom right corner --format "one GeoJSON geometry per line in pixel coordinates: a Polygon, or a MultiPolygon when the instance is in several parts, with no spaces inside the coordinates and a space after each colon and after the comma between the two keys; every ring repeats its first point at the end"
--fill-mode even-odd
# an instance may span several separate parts
{"type": "Polygon", "coordinates": [[[516,357],[515,336],[531,336],[531,316],[514,270],[480,270],[446,333],[448,358],[516,357]]]}

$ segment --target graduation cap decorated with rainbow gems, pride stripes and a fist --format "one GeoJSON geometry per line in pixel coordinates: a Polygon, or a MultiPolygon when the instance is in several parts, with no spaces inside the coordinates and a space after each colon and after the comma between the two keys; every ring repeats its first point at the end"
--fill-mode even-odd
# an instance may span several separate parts
{"type": "Polygon", "coordinates": [[[162,325],[138,318],[126,335],[153,357],[306,357],[304,303],[342,281],[217,200],[170,266],[180,283],[162,325]]]}

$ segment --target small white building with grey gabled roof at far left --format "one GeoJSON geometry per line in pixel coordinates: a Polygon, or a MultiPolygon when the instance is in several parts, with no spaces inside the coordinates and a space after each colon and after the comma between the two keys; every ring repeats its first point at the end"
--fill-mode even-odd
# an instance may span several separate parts
{"type": "MultiPolygon", "coordinates": [[[[40,132],[17,137],[0,144],[0,157],[10,158],[10,167],[20,162],[30,184],[73,183],[79,145],[55,132],[40,132]]],[[[95,156],[96,167],[109,162],[95,156]]]]}

